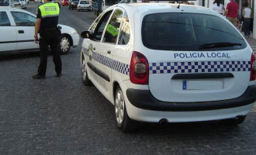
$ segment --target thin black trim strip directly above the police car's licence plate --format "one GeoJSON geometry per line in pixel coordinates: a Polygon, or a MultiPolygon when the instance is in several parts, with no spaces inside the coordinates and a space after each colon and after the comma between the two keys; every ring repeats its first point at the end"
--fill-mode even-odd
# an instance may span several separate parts
{"type": "Polygon", "coordinates": [[[175,74],[171,79],[231,78],[231,73],[175,74]]]}

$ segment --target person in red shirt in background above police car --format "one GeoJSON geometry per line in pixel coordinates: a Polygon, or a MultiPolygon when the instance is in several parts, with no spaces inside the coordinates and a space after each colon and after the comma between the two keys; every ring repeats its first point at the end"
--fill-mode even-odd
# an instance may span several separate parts
{"type": "Polygon", "coordinates": [[[232,24],[234,26],[237,27],[237,12],[239,9],[239,5],[237,4],[237,2],[234,2],[234,0],[230,0],[230,2],[227,4],[227,8],[226,8],[226,15],[227,15],[227,19],[232,22],[232,24]]]}

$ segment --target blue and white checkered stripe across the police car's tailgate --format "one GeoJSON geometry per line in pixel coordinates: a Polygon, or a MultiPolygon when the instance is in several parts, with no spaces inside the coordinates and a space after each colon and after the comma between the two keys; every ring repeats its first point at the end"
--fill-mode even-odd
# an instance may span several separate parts
{"type": "Polygon", "coordinates": [[[250,71],[251,61],[200,61],[149,64],[150,74],[250,71]]]}

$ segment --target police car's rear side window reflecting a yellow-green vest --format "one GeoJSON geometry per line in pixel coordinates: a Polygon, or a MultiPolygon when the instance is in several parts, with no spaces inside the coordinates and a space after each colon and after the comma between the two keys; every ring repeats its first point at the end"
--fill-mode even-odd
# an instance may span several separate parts
{"type": "Polygon", "coordinates": [[[123,18],[123,11],[116,9],[116,11],[112,14],[111,19],[109,20],[108,26],[106,27],[106,32],[103,38],[104,43],[116,44],[122,18],[123,18]]]}

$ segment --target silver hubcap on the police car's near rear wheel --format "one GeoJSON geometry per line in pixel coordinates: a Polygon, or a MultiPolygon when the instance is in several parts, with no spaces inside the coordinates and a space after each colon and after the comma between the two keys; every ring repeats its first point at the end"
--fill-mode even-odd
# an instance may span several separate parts
{"type": "Polygon", "coordinates": [[[124,115],[124,99],[123,99],[123,93],[121,90],[117,91],[116,93],[115,108],[116,108],[116,121],[118,122],[118,124],[121,124],[123,122],[123,115],[124,115]]]}

